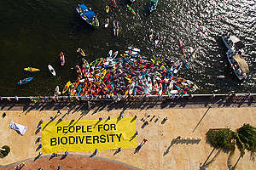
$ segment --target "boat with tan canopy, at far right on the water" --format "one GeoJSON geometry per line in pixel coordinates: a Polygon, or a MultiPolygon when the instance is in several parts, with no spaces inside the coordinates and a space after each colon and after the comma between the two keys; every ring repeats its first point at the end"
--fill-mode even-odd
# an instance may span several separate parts
{"type": "Polygon", "coordinates": [[[231,48],[227,52],[227,58],[229,60],[230,67],[235,73],[236,77],[239,80],[247,79],[249,67],[246,60],[241,57],[241,51],[235,51],[234,48],[231,48]]]}

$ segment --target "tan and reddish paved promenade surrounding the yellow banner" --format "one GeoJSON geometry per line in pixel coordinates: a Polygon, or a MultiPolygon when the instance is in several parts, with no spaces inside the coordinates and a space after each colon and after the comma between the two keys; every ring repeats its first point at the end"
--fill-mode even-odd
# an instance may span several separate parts
{"type": "MultiPolygon", "coordinates": [[[[108,116],[117,117],[121,111],[123,110],[71,111],[70,114],[64,117],[64,120],[78,120],[79,118],[82,120],[98,119],[100,116],[103,118],[107,118],[108,116]]],[[[19,116],[22,111],[0,111],[1,115],[3,112],[7,113],[7,116],[0,119],[0,145],[7,144],[10,146],[11,150],[9,156],[0,158],[0,169],[9,169],[10,167],[3,166],[8,166],[9,164],[28,158],[31,158],[31,160],[27,161],[26,167],[23,169],[37,169],[38,167],[56,169],[57,165],[61,165],[61,169],[107,170],[108,168],[129,169],[132,167],[145,170],[204,169],[201,166],[207,160],[207,157],[213,149],[210,144],[206,143],[206,133],[209,128],[230,127],[230,129],[235,130],[244,123],[250,123],[254,127],[256,126],[256,110],[254,107],[211,108],[197,126],[206,111],[207,107],[198,109],[126,109],[124,116],[138,116],[136,121],[137,131],[139,133],[137,143],[140,144],[143,139],[148,139],[148,142],[146,142],[143,148],[136,154],[134,154],[135,149],[121,150],[116,155],[113,155],[115,150],[105,150],[99,151],[96,157],[88,158],[88,156],[92,154],[91,152],[75,152],[70,153],[73,156],[63,160],[58,157],[50,161],[49,156],[47,158],[38,159],[37,161],[32,161],[38,156],[38,152],[40,151],[36,151],[39,143],[35,144],[40,133],[35,134],[35,129],[41,119],[49,121],[49,116],[55,116],[57,111],[32,110],[27,112],[26,115],[23,113],[22,116],[19,116]],[[144,118],[147,113],[150,114],[150,117],[147,118],[148,125],[142,128],[143,121],[141,121],[141,119],[144,118]],[[153,116],[155,117],[153,121],[150,122],[153,116]],[[154,122],[157,116],[161,116],[160,120],[154,122]],[[162,124],[161,122],[165,116],[168,116],[168,120],[162,124]],[[26,125],[28,127],[26,134],[20,136],[20,134],[16,133],[14,130],[9,129],[9,122],[17,122],[26,125]],[[181,136],[182,138],[201,138],[201,141],[193,144],[173,144],[172,140],[177,138],[177,136],[181,136]],[[73,159],[76,161],[73,161],[73,159]],[[112,168],[106,166],[106,164],[108,164],[106,161],[109,161],[109,166],[112,168]],[[73,167],[68,167],[70,166],[69,162],[73,162],[73,167]],[[93,167],[91,164],[95,164],[96,166],[93,167]],[[89,168],[89,165],[92,167],[89,168]],[[131,167],[127,167],[127,165],[131,167]]],[[[61,111],[62,115],[66,112],[67,111],[61,111]]],[[[236,149],[235,155],[230,158],[231,165],[236,163],[238,157],[239,150],[236,149]]],[[[210,163],[208,165],[205,164],[205,167],[212,170],[229,169],[228,158],[229,154],[214,150],[206,164],[208,164],[208,162],[210,163]]],[[[256,163],[250,160],[250,154],[248,152],[241,158],[237,166],[237,169],[256,169],[256,163]]],[[[13,167],[11,169],[13,169],[13,167]]]]}

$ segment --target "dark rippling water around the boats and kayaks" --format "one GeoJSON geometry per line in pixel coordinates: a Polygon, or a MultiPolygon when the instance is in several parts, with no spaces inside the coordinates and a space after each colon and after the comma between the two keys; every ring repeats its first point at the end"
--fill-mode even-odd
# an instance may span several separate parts
{"type": "Polygon", "coordinates": [[[134,44],[150,56],[159,54],[180,59],[178,40],[196,49],[195,59],[190,60],[190,69],[179,71],[180,77],[189,79],[201,88],[197,93],[255,92],[256,91],[256,3],[254,0],[211,1],[163,1],[157,10],[148,14],[148,0],[133,4],[137,16],[126,9],[123,0],[118,8],[106,14],[103,10],[109,1],[88,0],[86,4],[98,15],[101,22],[108,17],[108,28],[93,29],[79,18],[75,6],[82,1],[23,0],[0,2],[0,95],[27,96],[51,95],[56,85],[62,89],[69,80],[76,79],[72,69],[81,64],[77,48],[83,48],[89,61],[106,57],[110,49],[124,52],[134,44]],[[119,20],[119,37],[113,37],[113,20],[119,20]],[[193,30],[199,24],[207,26],[208,36],[200,37],[193,30]],[[160,32],[158,48],[148,41],[148,29],[160,32]],[[245,43],[245,55],[250,72],[246,82],[238,82],[230,73],[226,48],[220,35],[232,31],[245,43]],[[67,65],[61,68],[60,52],[67,56],[67,65]],[[53,65],[57,77],[52,77],[47,65],[53,65]],[[25,72],[24,67],[39,68],[39,72],[25,72]],[[219,75],[226,78],[218,79],[219,75]],[[16,86],[21,78],[34,77],[32,82],[16,86]]]}

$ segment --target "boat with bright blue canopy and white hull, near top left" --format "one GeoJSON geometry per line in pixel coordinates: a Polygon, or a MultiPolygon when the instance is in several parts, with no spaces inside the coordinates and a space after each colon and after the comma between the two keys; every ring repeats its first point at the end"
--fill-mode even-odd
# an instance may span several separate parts
{"type": "Polygon", "coordinates": [[[82,19],[85,20],[90,26],[100,26],[99,20],[96,18],[96,14],[84,3],[79,4],[76,9],[82,19]]]}

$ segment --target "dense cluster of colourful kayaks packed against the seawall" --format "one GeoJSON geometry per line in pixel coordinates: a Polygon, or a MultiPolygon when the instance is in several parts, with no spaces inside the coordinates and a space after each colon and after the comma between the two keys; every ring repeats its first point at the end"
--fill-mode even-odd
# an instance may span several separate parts
{"type": "Polygon", "coordinates": [[[174,95],[191,94],[194,82],[178,77],[183,62],[171,65],[160,56],[146,57],[139,48],[130,46],[124,54],[109,51],[105,58],[92,62],[82,59],[76,65],[74,82],[67,82],[62,94],[71,96],[107,95],[174,95]]]}

